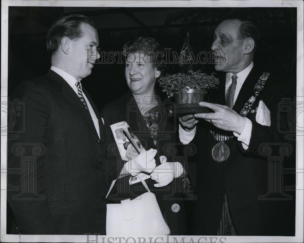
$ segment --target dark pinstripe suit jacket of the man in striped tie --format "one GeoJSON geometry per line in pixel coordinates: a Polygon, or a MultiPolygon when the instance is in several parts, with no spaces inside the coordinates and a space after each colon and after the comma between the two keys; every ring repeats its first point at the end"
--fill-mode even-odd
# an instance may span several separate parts
{"type": "Polygon", "coordinates": [[[19,232],[105,235],[102,121],[99,139],[77,94],[52,70],[22,82],[10,98],[24,103],[17,136],[8,140],[7,200],[19,232]]]}

